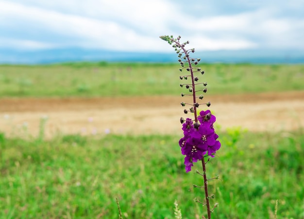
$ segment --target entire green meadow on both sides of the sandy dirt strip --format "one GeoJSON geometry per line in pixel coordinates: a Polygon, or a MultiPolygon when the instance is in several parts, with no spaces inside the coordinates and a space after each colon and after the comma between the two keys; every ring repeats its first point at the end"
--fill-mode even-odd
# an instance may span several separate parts
{"type": "MultiPolygon", "coordinates": [[[[208,94],[304,90],[304,65],[201,64],[208,94]]],[[[180,95],[175,64],[67,63],[0,66],[1,98],[180,95]]],[[[186,74],[186,72],[185,72],[186,74]]],[[[200,82],[199,81],[199,82],[200,82]]],[[[237,109],[236,109],[237,111],[237,109]]],[[[3,114],[3,113],[2,113],[3,114]]],[[[2,114],[0,114],[2,116],[2,114]]],[[[179,118],[177,118],[179,119],[179,118]]],[[[3,121],[3,118],[0,118],[3,121]]],[[[220,124],[219,124],[220,125],[220,124]]],[[[304,217],[304,129],[217,129],[208,162],[213,219],[304,217]],[[275,214],[276,201],[277,212],[275,214]]],[[[186,173],[176,135],[7,137],[0,130],[0,218],[183,219],[205,214],[197,163],[186,173]]]]}

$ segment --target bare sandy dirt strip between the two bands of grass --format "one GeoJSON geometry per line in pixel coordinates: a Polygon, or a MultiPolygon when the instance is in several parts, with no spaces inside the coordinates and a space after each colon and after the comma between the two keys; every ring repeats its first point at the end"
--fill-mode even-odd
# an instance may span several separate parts
{"type": "MultiPolygon", "coordinates": [[[[150,134],[180,133],[186,118],[181,96],[0,99],[0,132],[33,135],[45,119],[45,133],[150,134]]],[[[304,91],[242,95],[206,95],[221,129],[242,127],[252,131],[280,131],[304,127],[304,91]]],[[[207,109],[204,105],[199,109],[207,109]]]]}

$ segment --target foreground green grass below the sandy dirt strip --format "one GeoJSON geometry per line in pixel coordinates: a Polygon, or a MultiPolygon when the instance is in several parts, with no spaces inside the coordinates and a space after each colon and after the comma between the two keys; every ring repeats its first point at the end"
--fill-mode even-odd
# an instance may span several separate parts
{"type": "MultiPolygon", "coordinates": [[[[222,147],[207,164],[219,202],[213,219],[303,218],[304,131],[220,133],[222,147]]],[[[184,219],[205,212],[203,184],[185,173],[179,136],[79,135],[49,141],[0,134],[0,218],[184,219]]],[[[201,171],[195,164],[193,170],[201,171]]]]}

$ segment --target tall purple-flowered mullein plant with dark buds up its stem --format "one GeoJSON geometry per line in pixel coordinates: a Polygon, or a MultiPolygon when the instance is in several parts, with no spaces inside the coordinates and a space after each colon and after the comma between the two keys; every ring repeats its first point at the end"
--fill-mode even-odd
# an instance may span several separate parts
{"type": "Polygon", "coordinates": [[[191,171],[191,167],[193,163],[202,161],[203,173],[196,171],[199,175],[203,176],[204,185],[194,187],[199,187],[204,189],[205,193],[205,202],[201,202],[198,199],[194,199],[194,201],[199,202],[206,206],[207,208],[207,218],[211,219],[211,213],[218,206],[218,203],[214,205],[214,207],[210,208],[209,200],[214,198],[214,195],[208,195],[208,181],[213,179],[219,179],[219,177],[214,177],[211,179],[207,179],[206,176],[206,164],[210,160],[210,157],[214,157],[217,150],[220,149],[220,142],[217,140],[218,135],[215,133],[213,124],[216,121],[216,117],[211,114],[210,110],[202,110],[198,113],[198,108],[201,105],[206,105],[209,107],[211,105],[210,102],[207,103],[199,103],[203,99],[203,93],[207,92],[205,86],[206,82],[199,83],[198,76],[196,74],[203,74],[201,68],[197,67],[200,62],[200,58],[192,58],[192,55],[195,50],[194,49],[186,49],[186,45],[189,44],[189,41],[184,43],[180,42],[181,37],[173,38],[173,36],[161,36],[161,39],[167,41],[172,47],[175,49],[178,54],[178,62],[181,65],[180,71],[186,72],[184,75],[180,76],[180,79],[183,80],[183,83],[180,86],[187,89],[187,93],[182,92],[182,96],[190,95],[193,97],[193,103],[185,103],[181,102],[183,107],[190,106],[189,109],[185,109],[184,113],[188,112],[193,113],[193,118],[186,118],[186,120],[181,117],[180,121],[182,123],[182,130],[184,132],[184,136],[179,140],[179,145],[181,147],[181,151],[185,157],[185,168],[186,172],[191,171]],[[187,82],[187,79],[190,79],[190,82],[187,82]],[[185,82],[184,82],[185,81],[185,82]],[[203,87],[201,90],[196,90],[197,85],[203,87]],[[200,94],[201,93],[201,94],[200,94]]]}

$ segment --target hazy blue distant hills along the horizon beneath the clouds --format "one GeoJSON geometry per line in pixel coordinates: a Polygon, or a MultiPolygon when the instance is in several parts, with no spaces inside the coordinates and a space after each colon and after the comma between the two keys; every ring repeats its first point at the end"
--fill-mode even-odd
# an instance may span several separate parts
{"type": "MultiPolygon", "coordinates": [[[[214,63],[304,63],[304,51],[206,51],[196,52],[202,62],[214,63]]],[[[0,64],[49,64],[77,61],[108,62],[175,62],[177,55],[172,53],[136,53],[81,48],[65,48],[35,51],[0,50],[0,64]]]]}

